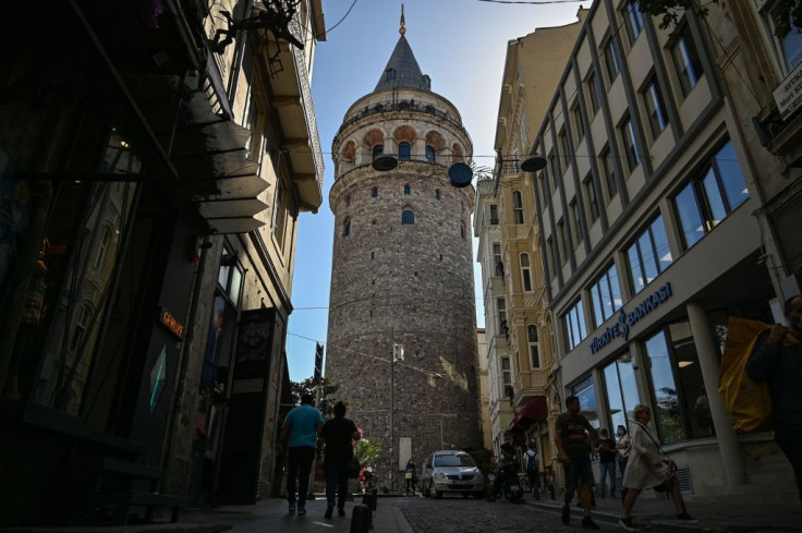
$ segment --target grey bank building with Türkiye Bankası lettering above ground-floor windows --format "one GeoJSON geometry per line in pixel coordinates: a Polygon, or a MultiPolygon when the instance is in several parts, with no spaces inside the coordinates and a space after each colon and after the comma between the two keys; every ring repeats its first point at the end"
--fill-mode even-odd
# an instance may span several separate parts
{"type": "Polygon", "coordinates": [[[690,14],[667,32],[636,2],[593,4],[531,148],[547,162],[546,287],[563,397],[594,425],[627,426],[645,403],[683,492],[783,497],[770,434],[736,434],[717,392],[728,318],[774,322],[793,281],[766,264],[761,171],[719,43],[690,14]]]}

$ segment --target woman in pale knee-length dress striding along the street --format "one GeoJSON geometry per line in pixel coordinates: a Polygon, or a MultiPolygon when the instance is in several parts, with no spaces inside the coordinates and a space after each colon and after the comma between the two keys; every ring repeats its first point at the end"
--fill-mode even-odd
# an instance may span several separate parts
{"type": "Polygon", "coordinates": [[[677,508],[677,523],[695,524],[698,520],[693,518],[685,510],[685,504],[682,501],[680,493],[680,484],[676,475],[666,480],[666,464],[663,462],[660,446],[657,439],[652,435],[647,425],[652,419],[652,411],[646,405],[635,407],[635,424],[632,429],[630,439],[630,457],[627,462],[627,471],[623,474],[623,486],[628,488],[627,497],[623,500],[623,511],[618,523],[627,531],[636,531],[632,522],[632,507],[635,499],[645,488],[653,488],[664,483],[668,483],[666,492],[669,493],[673,505],[677,508]]]}

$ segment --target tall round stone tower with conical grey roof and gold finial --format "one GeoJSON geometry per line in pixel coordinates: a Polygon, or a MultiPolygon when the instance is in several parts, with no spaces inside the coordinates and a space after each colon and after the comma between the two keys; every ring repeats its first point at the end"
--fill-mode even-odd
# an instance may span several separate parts
{"type": "Polygon", "coordinates": [[[365,437],[379,485],[409,459],[481,449],[471,215],[449,181],[473,150],[457,108],[432,90],[401,37],[376,88],[333,143],[333,265],[326,375],[365,437]],[[394,349],[393,349],[394,347],[394,349]],[[393,361],[394,358],[394,361],[393,361]]]}

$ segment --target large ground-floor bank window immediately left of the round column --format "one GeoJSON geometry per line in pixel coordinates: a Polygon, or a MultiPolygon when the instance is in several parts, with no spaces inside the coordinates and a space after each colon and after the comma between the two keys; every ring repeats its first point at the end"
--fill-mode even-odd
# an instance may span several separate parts
{"type": "Polygon", "coordinates": [[[690,324],[670,324],[644,346],[655,395],[653,419],[660,440],[671,444],[710,436],[709,404],[690,324]]]}

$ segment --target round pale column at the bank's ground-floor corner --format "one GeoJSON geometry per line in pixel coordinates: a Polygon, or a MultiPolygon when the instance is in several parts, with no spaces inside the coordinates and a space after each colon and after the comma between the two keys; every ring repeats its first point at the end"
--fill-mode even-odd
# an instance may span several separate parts
{"type": "Polygon", "coordinates": [[[705,384],[707,401],[710,404],[713,425],[716,427],[718,447],[721,451],[724,472],[729,485],[746,482],[746,472],[741,457],[741,445],[738,435],[732,428],[729,411],[718,393],[718,349],[710,332],[707,314],[697,303],[689,302],[685,305],[688,319],[691,323],[696,354],[702,370],[702,380],[705,384]]]}

